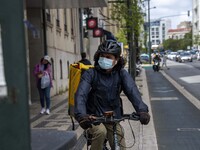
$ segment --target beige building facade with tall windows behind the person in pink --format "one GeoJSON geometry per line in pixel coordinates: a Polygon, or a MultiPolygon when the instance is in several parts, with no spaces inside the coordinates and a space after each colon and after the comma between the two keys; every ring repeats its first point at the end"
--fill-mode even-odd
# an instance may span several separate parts
{"type": "MultiPolygon", "coordinates": [[[[39,100],[33,75],[34,66],[44,55],[51,57],[53,88],[51,96],[68,90],[69,66],[81,59],[80,53],[86,51],[88,58],[93,60],[100,38],[93,38],[89,33],[87,39],[83,36],[83,8],[94,7],[98,14],[99,7],[106,7],[106,1],[96,0],[92,3],[78,0],[48,2],[45,9],[41,3],[29,0],[25,11],[25,26],[27,27],[27,53],[30,101],[39,100]],[[60,5],[62,4],[62,5],[60,5]],[[83,6],[82,6],[83,5],[83,6]],[[86,42],[85,42],[86,41],[86,42]]],[[[67,97],[67,95],[66,95],[67,97]]]]}

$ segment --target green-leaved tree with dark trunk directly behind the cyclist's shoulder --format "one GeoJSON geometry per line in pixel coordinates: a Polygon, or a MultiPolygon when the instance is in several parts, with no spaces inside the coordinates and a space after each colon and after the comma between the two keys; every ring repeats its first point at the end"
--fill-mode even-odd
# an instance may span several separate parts
{"type": "MultiPolygon", "coordinates": [[[[141,1],[139,1],[141,2],[141,1]]],[[[136,61],[140,53],[140,29],[143,24],[143,14],[138,0],[118,0],[111,10],[111,17],[118,21],[121,28],[127,33],[129,45],[129,72],[133,79],[136,76],[136,61]]]]}

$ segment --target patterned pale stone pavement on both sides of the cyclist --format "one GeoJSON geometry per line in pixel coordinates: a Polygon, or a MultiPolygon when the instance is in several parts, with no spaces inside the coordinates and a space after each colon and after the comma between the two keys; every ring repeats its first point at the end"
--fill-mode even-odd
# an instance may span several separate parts
{"type": "MultiPolygon", "coordinates": [[[[150,115],[151,115],[151,121],[147,126],[143,126],[140,124],[140,122],[136,121],[130,121],[130,124],[133,128],[134,135],[135,135],[135,144],[131,148],[127,148],[130,150],[157,150],[157,140],[156,140],[156,134],[153,124],[153,116],[151,112],[151,105],[149,101],[149,94],[148,94],[148,86],[146,82],[146,74],[145,70],[142,69],[141,75],[136,77],[136,84],[139,87],[139,90],[142,94],[142,98],[145,101],[145,103],[149,106],[150,115]]],[[[64,93],[62,95],[58,95],[51,98],[51,114],[50,115],[41,115],[40,112],[40,104],[39,103],[33,103],[30,106],[30,122],[31,122],[31,129],[32,133],[37,131],[38,133],[42,133],[42,131],[52,131],[53,134],[55,132],[70,132],[72,131],[72,122],[71,119],[67,113],[67,97],[68,93],[64,93]]],[[[131,113],[134,111],[132,105],[126,98],[126,96],[122,93],[121,97],[123,99],[123,107],[124,107],[124,113],[131,113]]],[[[134,138],[131,133],[131,128],[128,123],[128,121],[124,121],[121,123],[122,126],[125,129],[125,138],[126,138],[126,146],[130,147],[134,143],[134,138]]],[[[73,149],[73,150],[86,150],[86,139],[83,136],[83,130],[80,128],[78,123],[75,121],[75,133],[76,136],[71,135],[72,138],[70,139],[61,139],[60,141],[57,140],[57,145],[59,145],[61,142],[64,142],[64,140],[69,140],[71,142],[72,146],[73,144],[76,145],[72,147],[66,148],[66,143],[60,144],[59,148],[51,147],[48,150],[57,150],[57,149],[73,149]],[[77,138],[77,141],[75,141],[75,138],[77,138]],[[59,143],[60,142],[60,143],[59,143]]],[[[69,133],[70,134],[70,133],[69,133]]],[[[58,135],[59,136],[59,135],[58,135]]],[[[60,136],[63,136],[60,134],[60,136]]],[[[38,138],[38,137],[37,137],[38,138]]],[[[44,140],[44,137],[40,137],[43,145],[48,145],[48,140],[44,140]],[[45,143],[46,142],[46,143],[45,143]]],[[[54,137],[56,138],[56,137],[54,137]]],[[[58,137],[57,137],[58,138],[58,137]]],[[[37,139],[37,142],[40,141],[37,139]]],[[[70,143],[68,141],[68,144],[70,143]]],[[[35,145],[36,139],[32,137],[32,147],[33,150],[46,150],[39,148],[38,145],[35,145]]]]}

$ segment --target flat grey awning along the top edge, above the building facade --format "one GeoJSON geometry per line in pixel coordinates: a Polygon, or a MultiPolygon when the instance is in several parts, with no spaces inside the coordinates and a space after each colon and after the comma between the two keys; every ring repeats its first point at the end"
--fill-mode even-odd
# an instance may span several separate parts
{"type": "Polygon", "coordinates": [[[46,9],[107,7],[107,0],[26,0],[28,8],[46,9]]]}

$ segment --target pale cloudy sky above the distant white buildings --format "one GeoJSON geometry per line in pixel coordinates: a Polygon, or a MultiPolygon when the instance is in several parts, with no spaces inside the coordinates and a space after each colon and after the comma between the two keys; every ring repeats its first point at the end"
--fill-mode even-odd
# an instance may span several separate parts
{"type": "MultiPolygon", "coordinates": [[[[146,2],[146,6],[147,6],[146,2]]],[[[150,18],[151,19],[170,19],[172,29],[182,21],[192,20],[192,0],[150,0],[150,18]],[[153,7],[156,7],[153,9],[153,7]],[[190,17],[188,17],[190,10],[190,17]],[[166,17],[180,15],[175,17],[166,17]]]]}

